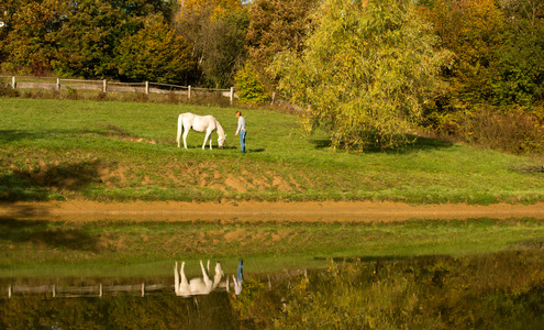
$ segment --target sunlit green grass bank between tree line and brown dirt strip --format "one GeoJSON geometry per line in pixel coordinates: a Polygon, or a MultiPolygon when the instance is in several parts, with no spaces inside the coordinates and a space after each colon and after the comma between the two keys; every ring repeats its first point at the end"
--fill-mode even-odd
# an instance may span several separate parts
{"type": "Polygon", "coordinates": [[[542,160],[420,138],[402,150],[348,153],[297,116],[245,110],[246,154],[234,108],[0,98],[0,200],[390,200],[535,202],[542,160]],[[212,114],[226,147],[177,148],[177,116],[212,114]]]}

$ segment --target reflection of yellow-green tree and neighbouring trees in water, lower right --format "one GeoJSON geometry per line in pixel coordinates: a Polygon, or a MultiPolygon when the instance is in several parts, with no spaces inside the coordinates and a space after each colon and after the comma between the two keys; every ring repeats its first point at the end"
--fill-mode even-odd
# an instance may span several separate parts
{"type": "Polygon", "coordinates": [[[352,260],[291,278],[276,326],[544,329],[544,250],[463,257],[352,260]]]}

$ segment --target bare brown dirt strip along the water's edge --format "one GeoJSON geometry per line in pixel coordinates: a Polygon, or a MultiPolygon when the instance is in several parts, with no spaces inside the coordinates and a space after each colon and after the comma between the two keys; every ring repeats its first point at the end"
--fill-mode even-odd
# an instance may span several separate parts
{"type": "Polygon", "coordinates": [[[65,221],[403,221],[409,219],[521,218],[544,220],[544,204],[491,206],[398,202],[96,202],[0,204],[0,218],[65,221]]]}

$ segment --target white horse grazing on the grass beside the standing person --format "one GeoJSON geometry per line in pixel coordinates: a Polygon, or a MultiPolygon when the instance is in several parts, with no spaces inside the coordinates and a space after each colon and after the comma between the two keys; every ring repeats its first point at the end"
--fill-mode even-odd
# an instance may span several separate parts
{"type": "Polygon", "coordinates": [[[213,116],[197,116],[190,112],[181,113],[178,117],[178,135],[176,142],[178,143],[178,147],[180,144],[181,133],[184,133],[184,146],[187,148],[187,135],[189,134],[189,130],[193,129],[197,132],[206,132],[204,143],[202,144],[202,150],[204,150],[206,142],[210,139],[210,150],[212,148],[211,133],[213,131],[218,131],[218,144],[219,148],[223,147],[225,143],[225,131],[219,123],[219,121],[213,118],[213,116]]]}

